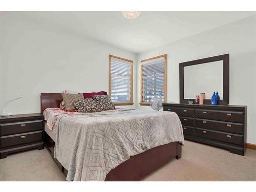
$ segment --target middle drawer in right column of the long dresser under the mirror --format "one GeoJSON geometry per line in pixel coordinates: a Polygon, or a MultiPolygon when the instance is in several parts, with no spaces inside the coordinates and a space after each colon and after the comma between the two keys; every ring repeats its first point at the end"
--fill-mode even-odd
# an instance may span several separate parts
{"type": "Polygon", "coordinates": [[[243,123],[232,123],[207,119],[196,119],[196,127],[237,134],[243,134],[244,130],[243,123]]]}

